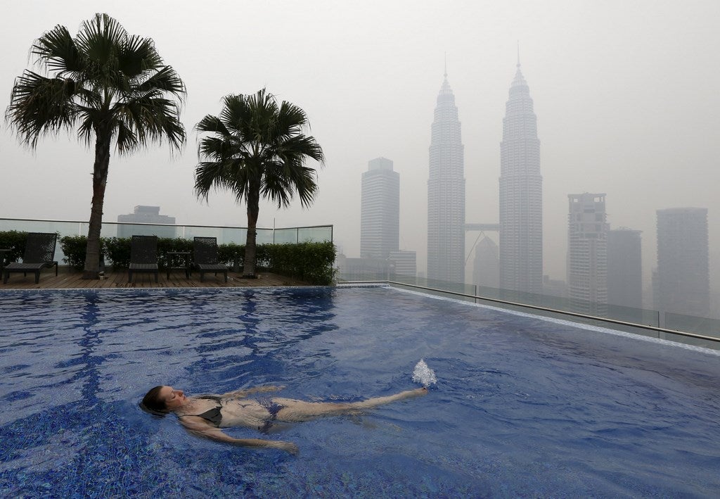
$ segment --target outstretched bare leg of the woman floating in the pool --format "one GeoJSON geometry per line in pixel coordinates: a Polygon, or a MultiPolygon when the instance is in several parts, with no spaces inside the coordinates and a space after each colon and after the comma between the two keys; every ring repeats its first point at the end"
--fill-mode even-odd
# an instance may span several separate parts
{"type": "Polygon", "coordinates": [[[387,397],[374,397],[372,399],[361,400],[360,402],[305,402],[304,400],[283,399],[279,397],[273,397],[272,401],[284,406],[278,411],[277,420],[286,421],[287,423],[297,423],[322,416],[351,414],[359,410],[372,409],[372,407],[379,405],[397,402],[398,400],[420,397],[420,395],[426,393],[428,393],[428,389],[418,388],[388,395],[387,397]]]}

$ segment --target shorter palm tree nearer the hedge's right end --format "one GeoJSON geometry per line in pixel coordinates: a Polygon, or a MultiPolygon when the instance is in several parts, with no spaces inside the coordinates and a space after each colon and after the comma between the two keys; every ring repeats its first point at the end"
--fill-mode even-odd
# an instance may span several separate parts
{"type": "Polygon", "coordinates": [[[207,132],[199,143],[195,192],[207,200],[210,189],[230,190],[248,206],[248,237],[243,277],[254,278],[256,226],[260,198],[278,208],[289,206],[294,193],[303,208],[315,199],[316,171],[305,166],[311,158],[323,163],[323,149],[312,136],[305,111],[290,102],[278,105],[273,94],[228,95],[219,116],[207,115],[196,128],[207,132]],[[205,161],[203,161],[205,160],[205,161]]]}

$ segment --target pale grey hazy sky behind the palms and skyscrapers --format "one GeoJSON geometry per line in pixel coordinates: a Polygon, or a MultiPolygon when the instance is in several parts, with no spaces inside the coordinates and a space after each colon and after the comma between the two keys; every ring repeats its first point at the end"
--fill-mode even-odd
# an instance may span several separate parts
{"type": "MultiPolygon", "coordinates": [[[[467,221],[498,221],[505,101],[522,71],[538,116],[544,267],[564,278],[567,195],[606,193],[611,227],[643,231],[655,265],[655,210],[708,208],[711,273],[720,284],[720,2],[559,1],[33,1],[0,20],[0,92],[29,67],[33,40],[55,25],[74,35],[107,12],[152,37],[184,79],[181,154],[153,146],[113,155],[104,220],[159,205],[179,224],[246,225],[228,193],[194,196],[194,125],[230,93],[267,87],[300,105],[327,157],[312,208],[261,206],[258,226],[333,224],[359,256],[361,174],[384,156],[400,172],[401,249],[426,269],[428,147],[444,58],[462,123],[467,221]],[[445,56],[446,54],[446,56],[445,56]]],[[[92,154],[74,136],[35,153],[0,133],[0,217],[86,220],[92,154]],[[7,187],[10,185],[11,187],[7,187]],[[19,188],[17,186],[23,186],[19,188]]],[[[477,234],[468,234],[469,252],[477,234]]],[[[492,235],[496,238],[496,235],[492,235]]],[[[472,262],[472,257],[470,262],[472,262]]]]}

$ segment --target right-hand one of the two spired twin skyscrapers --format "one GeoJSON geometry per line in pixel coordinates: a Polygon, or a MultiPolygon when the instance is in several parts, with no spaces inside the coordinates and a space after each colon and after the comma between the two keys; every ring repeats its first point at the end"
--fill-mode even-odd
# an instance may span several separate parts
{"type": "Polygon", "coordinates": [[[520,71],[510,84],[500,142],[500,288],[541,293],[542,177],[537,118],[520,71]]]}

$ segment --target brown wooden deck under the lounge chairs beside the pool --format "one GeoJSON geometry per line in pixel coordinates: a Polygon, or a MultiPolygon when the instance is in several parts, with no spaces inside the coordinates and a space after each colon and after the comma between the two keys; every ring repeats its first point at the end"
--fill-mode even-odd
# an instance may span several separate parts
{"type": "Polygon", "coordinates": [[[73,268],[60,267],[58,276],[55,269],[45,269],[40,273],[40,283],[35,284],[35,273],[12,273],[3,284],[0,279],[0,291],[4,289],[93,289],[93,288],[254,288],[263,286],[308,286],[307,283],[297,279],[268,272],[258,272],[257,279],[243,279],[240,273],[228,273],[228,282],[221,273],[217,276],[206,273],[204,281],[200,282],[200,274],[193,273],[190,278],[185,277],[183,270],[173,270],[170,278],[161,270],[158,282],[155,275],[150,273],[135,273],[132,283],[127,282],[127,270],[112,272],[106,270],[104,279],[89,280],[82,278],[83,273],[73,268]]]}

